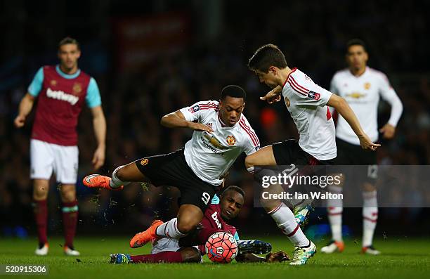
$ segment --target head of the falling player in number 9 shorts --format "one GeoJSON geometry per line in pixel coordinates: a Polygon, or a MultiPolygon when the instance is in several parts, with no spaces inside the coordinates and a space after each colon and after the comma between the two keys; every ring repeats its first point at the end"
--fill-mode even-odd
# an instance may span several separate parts
{"type": "Polygon", "coordinates": [[[240,86],[228,85],[223,88],[219,100],[219,115],[224,124],[234,126],[239,121],[246,98],[247,93],[240,86]]]}

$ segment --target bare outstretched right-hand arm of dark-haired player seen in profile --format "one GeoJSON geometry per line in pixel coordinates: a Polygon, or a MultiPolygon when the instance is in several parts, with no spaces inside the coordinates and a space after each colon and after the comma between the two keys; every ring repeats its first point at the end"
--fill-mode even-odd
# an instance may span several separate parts
{"type": "Polygon", "coordinates": [[[354,133],[356,133],[356,135],[358,136],[361,148],[365,150],[376,150],[379,146],[381,146],[380,144],[372,143],[372,141],[370,141],[369,136],[367,136],[365,131],[363,131],[363,128],[361,128],[360,122],[358,122],[356,114],[353,112],[348,103],[346,103],[346,100],[344,98],[341,98],[336,94],[332,94],[332,96],[330,96],[329,101],[327,102],[327,105],[337,110],[337,112],[339,112],[339,115],[344,117],[346,122],[348,122],[354,133]]]}

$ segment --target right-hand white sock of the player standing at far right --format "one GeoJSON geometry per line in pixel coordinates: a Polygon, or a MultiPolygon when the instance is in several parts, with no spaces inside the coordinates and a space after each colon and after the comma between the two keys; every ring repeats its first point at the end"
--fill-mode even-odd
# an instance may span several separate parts
{"type": "Polygon", "coordinates": [[[363,192],[363,247],[372,245],[377,220],[377,191],[363,192]]]}

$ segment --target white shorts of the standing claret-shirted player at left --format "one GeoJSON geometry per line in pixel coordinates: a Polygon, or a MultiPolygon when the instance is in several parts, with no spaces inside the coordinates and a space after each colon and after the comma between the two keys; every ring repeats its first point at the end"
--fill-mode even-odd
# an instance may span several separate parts
{"type": "Polygon", "coordinates": [[[30,140],[30,179],[51,179],[52,171],[58,183],[76,184],[79,150],[77,146],[63,146],[30,140]]]}

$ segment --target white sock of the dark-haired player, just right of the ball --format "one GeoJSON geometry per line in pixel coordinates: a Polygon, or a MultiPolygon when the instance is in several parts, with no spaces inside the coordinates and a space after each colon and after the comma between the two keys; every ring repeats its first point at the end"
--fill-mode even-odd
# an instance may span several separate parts
{"type": "Polygon", "coordinates": [[[277,208],[268,212],[268,214],[271,215],[282,233],[287,235],[294,246],[306,247],[306,245],[310,244],[308,238],[306,238],[306,235],[304,235],[299,224],[296,222],[294,214],[283,202],[277,208]]]}

